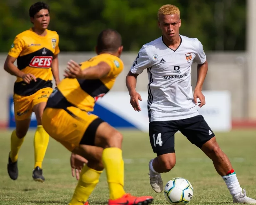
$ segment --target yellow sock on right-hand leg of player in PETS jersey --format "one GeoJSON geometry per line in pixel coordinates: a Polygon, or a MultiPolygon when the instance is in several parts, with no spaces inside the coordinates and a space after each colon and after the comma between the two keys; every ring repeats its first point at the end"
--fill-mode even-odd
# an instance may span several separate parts
{"type": "Polygon", "coordinates": [[[37,126],[37,130],[34,137],[34,149],[35,149],[35,167],[42,168],[42,162],[49,143],[49,135],[44,130],[42,125],[37,126]]]}

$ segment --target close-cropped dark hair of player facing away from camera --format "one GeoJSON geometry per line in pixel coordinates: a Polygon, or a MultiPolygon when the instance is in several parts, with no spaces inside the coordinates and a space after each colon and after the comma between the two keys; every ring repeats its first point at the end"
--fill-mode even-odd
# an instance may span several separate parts
{"type": "Polygon", "coordinates": [[[117,51],[120,46],[122,46],[122,37],[116,30],[108,28],[100,32],[97,39],[98,53],[117,51]]]}

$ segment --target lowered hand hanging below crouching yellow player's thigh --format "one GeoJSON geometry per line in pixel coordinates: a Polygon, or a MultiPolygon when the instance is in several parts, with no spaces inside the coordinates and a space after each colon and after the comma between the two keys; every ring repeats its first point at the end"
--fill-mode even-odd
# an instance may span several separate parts
{"type": "Polygon", "coordinates": [[[88,161],[82,156],[71,153],[70,165],[72,169],[72,176],[74,177],[76,175],[77,180],[79,180],[80,178],[80,172],[84,166],[84,163],[87,163],[87,162],[88,161]]]}

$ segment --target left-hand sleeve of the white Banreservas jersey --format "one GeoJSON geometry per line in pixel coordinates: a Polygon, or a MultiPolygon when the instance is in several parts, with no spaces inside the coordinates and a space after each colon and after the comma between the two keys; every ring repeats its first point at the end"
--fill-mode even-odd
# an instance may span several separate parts
{"type": "Polygon", "coordinates": [[[138,56],[134,60],[130,71],[132,73],[140,74],[144,69],[151,67],[151,59],[147,53],[145,46],[139,50],[138,56]]]}

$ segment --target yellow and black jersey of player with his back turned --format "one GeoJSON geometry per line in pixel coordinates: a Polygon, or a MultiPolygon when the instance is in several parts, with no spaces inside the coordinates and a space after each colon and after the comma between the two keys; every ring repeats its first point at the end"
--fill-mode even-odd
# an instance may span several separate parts
{"type": "Polygon", "coordinates": [[[118,74],[124,68],[122,60],[111,54],[97,55],[82,62],[80,66],[83,70],[102,61],[111,67],[106,77],[96,80],[65,78],[50,95],[46,107],[77,107],[86,112],[93,111],[95,102],[113,87],[118,74]]]}

